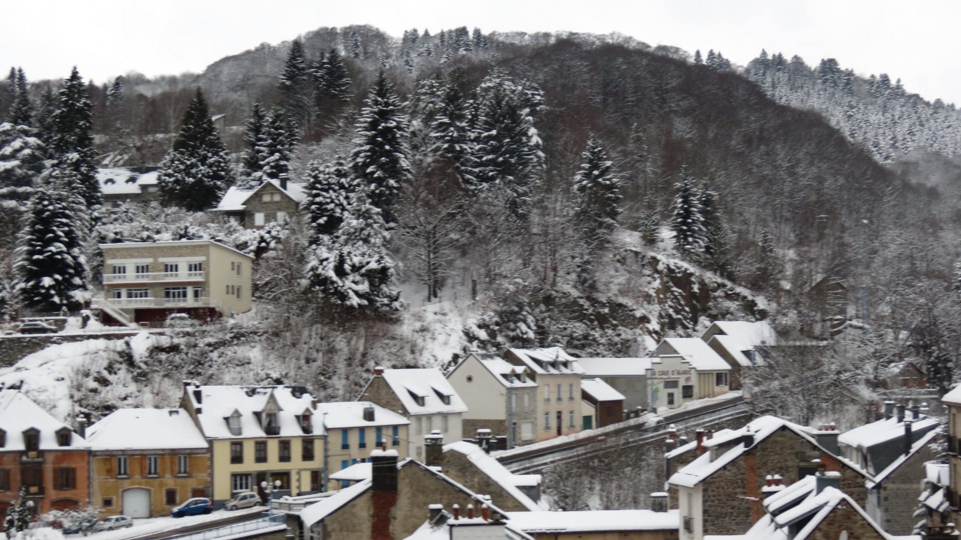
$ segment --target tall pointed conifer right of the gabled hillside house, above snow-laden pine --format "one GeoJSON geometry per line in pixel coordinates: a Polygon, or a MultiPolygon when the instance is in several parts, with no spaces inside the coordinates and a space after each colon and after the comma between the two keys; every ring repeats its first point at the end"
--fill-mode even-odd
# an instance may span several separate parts
{"type": "Polygon", "coordinates": [[[381,70],[357,119],[351,169],[370,204],[382,210],[383,221],[397,222],[394,207],[401,184],[410,179],[407,158],[407,115],[381,70]]]}

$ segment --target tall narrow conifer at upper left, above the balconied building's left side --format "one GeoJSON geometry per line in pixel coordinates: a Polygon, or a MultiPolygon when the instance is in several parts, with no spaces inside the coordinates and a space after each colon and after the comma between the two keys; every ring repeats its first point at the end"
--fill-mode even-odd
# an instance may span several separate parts
{"type": "Polygon", "coordinates": [[[74,67],[58,92],[58,109],[50,118],[52,133],[47,147],[53,168],[61,171],[63,180],[75,183],[64,188],[80,195],[87,211],[96,215],[104,198],[97,184],[97,151],[90,133],[92,109],[84,80],[74,67]]]}

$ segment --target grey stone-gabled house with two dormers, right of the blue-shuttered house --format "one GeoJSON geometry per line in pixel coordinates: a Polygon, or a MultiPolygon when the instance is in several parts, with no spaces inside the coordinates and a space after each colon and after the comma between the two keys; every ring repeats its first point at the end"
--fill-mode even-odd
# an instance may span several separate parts
{"type": "Polygon", "coordinates": [[[377,367],[357,401],[373,402],[406,417],[409,436],[402,442],[407,444],[406,454],[415,459],[424,459],[424,435],[432,430],[448,440],[463,438],[467,405],[439,369],[377,367]]]}

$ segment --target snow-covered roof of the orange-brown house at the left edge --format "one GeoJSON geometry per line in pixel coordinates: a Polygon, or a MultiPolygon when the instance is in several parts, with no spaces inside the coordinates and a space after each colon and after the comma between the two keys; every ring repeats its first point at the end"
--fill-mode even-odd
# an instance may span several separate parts
{"type": "Polygon", "coordinates": [[[70,444],[66,446],[57,444],[57,431],[64,428],[69,430],[69,426],[54,418],[19,390],[0,390],[0,430],[7,433],[3,450],[8,452],[26,450],[23,432],[31,428],[39,431],[38,450],[63,451],[88,448],[84,437],[76,432],[71,433],[70,444]]]}

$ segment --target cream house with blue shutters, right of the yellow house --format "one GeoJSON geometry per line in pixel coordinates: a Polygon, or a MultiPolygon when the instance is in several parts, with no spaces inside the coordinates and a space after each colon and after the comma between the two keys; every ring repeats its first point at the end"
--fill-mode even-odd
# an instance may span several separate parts
{"type": "MultiPolygon", "coordinates": [[[[404,416],[372,402],[336,402],[317,404],[315,413],[330,437],[327,471],[343,471],[367,461],[371,449],[386,447],[407,457],[407,430],[410,421],[404,416]]],[[[348,480],[334,479],[347,485],[348,480]]],[[[328,485],[327,489],[338,489],[328,485]]]]}

